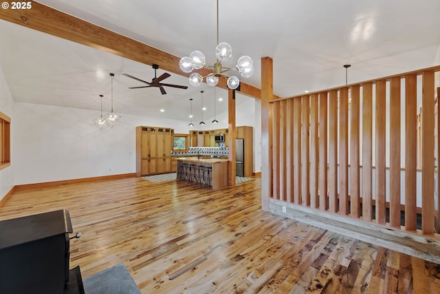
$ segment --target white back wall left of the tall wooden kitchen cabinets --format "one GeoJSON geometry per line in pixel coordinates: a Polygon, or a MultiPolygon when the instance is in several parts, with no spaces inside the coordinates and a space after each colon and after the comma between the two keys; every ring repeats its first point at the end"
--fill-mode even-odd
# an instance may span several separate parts
{"type": "Polygon", "coordinates": [[[173,127],[186,122],[121,114],[104,130],[94,125],[99,112],[14,103],[12,125],[14,185],[135,172],[135,127],[173,127]]]}

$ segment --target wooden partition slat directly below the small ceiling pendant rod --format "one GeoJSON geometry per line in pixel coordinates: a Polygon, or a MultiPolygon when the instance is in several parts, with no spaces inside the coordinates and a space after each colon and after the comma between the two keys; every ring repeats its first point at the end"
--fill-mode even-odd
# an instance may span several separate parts
{"type": "Polygon", "coordinates": [[[349,214],[349,89],[340,90],[339,99],[339,207],[340,214],[349,214]]]}

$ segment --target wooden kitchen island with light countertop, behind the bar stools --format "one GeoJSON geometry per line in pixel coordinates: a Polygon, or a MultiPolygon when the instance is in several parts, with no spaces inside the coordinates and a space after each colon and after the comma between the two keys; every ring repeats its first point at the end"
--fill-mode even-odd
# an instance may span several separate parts
{"type": "Polygon", "coordinates": [[[212,189],[220,189],[228,186],[228,161],[221,158],[197,158],[194,157],[179,157],[177,158],[177,178],[181,178],[179,174],[181,169],[179,166],[181,163],[193,164],[196,166],[211,167],[212,168],[212,189]]]}

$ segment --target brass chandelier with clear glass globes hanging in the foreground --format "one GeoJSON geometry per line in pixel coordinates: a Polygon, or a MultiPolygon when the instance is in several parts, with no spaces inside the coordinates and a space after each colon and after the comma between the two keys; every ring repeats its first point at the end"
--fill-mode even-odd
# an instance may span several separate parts
{"type": "Polygon", "coordinates": [[[180,59],[179,66],[182,72],[192,72],[192,70],[200,70],[202,67],[212,70],[208,76],[201,76],[198,72],[190,74],[190,85],[199,87],[203,78],[206,78],[206,83],[212,87],[219,83],[219,78],[226,78],[228,81],[226,85],[228,88],[235,90],[240,85],[240,80],[236,76],[225,76],[224,72],[229,70],[238,70],[241,76],[250,78],[254,74],[254,62],[250,56],[241,56],[237,61],[235,67],[222,67],[221,62],[227,61],[232,57],[232,48],[226,42],[219,43],[219,0],[217,0],[217,47],[215,48],[215,56],[217,62],[213,66],[206,65],[205,55],[198,51],[192,51],[190,56],[184,56],[180,59]]]}

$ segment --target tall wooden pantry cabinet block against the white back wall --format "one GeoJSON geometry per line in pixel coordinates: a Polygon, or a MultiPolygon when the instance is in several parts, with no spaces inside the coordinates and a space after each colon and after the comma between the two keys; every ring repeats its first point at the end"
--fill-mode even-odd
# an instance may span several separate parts
{"type": "Polygon", "coordinates": [[[175,171],[171,158],[174,129],[166,127],[136,127],[136,174],[146,176],[175,171]]]}

